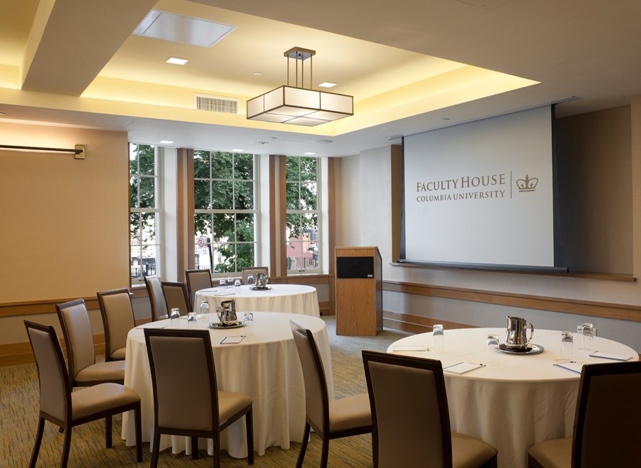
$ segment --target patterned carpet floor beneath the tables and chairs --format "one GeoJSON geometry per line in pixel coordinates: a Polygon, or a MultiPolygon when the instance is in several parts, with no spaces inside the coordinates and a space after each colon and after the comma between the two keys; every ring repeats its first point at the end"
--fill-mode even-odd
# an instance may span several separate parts
{"type": "MultiPolygon", "coordinates": [[[[327,323],[332,350],[332,368],[336,397],[366,392],[361,349],[385,351],[390,343],[407,336],[403,332],[384,330],[378,336],[337,336],[335,317],[323,317],[327,323]]],[[[99,356],[100,358],[101,356],[99,356]]],[[[38,419],[38,375],[36,365],[0,367],[0,467],[26,467],[33,449],[38,419]]],[[[143,443],[143,463],[136,463],[135,447],[126,447],[120,439],[122,417],[114,417],[113,446],[105,447],[104,420],[73,428],[69,467],[141,467],[149,466],[149,443],[143,443]]],[[[58,428],[45,423],[43,444],[38,456],[38,467],[57,467],[62,454],[63,434],[58,428]]],[[[280,447],[267,449],[264,456],[256,456],[254,467],[294,467],[300,443],[291,443],[289,450],[280,447]]],[[[304,467],[320,463],[321,443],[312,435],[307,447],[304,467]]],[[[210,467],[212,457],[199,452],[199,460],[191,456],[172,454],[170,449],[160,453],[159,467],[210,467]]],[[[222,467],[247,467],[247,460],[231,458],[221,453],[222,467]]],[[[330,442],[330,467],[372,467],[372,438],[370,434],[337,439],[330,442]]]]}

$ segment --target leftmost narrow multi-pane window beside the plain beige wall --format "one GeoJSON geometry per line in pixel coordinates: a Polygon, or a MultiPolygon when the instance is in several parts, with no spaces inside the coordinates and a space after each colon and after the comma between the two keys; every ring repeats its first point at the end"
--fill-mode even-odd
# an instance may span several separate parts
{"type": "Polygon", "coordinates": [[[151,145],[129,145],[130,271],[132,284],[160,271],[158,155],[151,145]]]}

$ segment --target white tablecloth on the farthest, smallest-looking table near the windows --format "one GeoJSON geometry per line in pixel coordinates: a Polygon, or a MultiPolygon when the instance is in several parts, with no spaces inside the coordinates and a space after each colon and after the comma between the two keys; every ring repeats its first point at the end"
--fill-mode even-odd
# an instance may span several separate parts
{"type": "Polygon", "coordinates": [[[270,284],[269,288],[256,291],[243,285],[201,289],[196,292],[195,308],[206,299],[213,313],[222,301],[235,299],[237,312],[264,310],[320,317],[316,288],[303,284],[270,284]]]}

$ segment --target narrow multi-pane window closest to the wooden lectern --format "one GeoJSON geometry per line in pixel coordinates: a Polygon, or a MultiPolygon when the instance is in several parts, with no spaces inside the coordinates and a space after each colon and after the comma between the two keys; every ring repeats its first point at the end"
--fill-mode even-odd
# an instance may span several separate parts
{"type": "Polygon", "coordinates": [[[287,271],[319,271],[319,158],[287,156],[287,271]]]}

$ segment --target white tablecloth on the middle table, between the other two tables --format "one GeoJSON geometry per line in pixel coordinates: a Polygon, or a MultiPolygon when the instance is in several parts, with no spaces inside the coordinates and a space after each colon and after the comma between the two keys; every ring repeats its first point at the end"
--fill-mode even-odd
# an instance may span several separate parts
{"type": "MultiPolygon", "coordinates": [[[[242,317],[243,314],[239,314],[239,319],[242,317]]],[[[300,314],[259,312],[254,314],[253,328],[247,325],[230,330],[208,328],[210,322],[218,321],[213,314],[200,317],[195,322],[197,328],[210,330],[218,388],[242,392],[254,399],[254,449],[258,455],[265,454],[265,449],[273,445],[288,449],[289,441],[300,442],[303,436],[304,380],[289,319],[298,321],[313,332],[323,360],[330,399],[334,399],[330,347],[322,319],[300,314]],[[237,335],[246,336],[239,344],[219,344],[225,336],[237,335]]],[[[169,319],[141,325],[131,330],[127,338],[125,385],[141,396],[143,441],[151,441],[154,435],[154,395],[142,327],[169,325],[168,328],[189,328],[186,319],[177,321],[178,327],[169,325],[169,319]]],[[[191,325],[194,322],[190,322],[191,325]]],[[[184,397],[189,398],[189,389],[184,389],[184,397]]],[[[135,443],[133,419],[126,413],[123,415],[122,437],[127,445],[135,443]]],[[[199,443],[213,454],[210,441],[199,443]]],[[[191,454],[191,445],[186,437],[162,435],[160,449],[170,445],[173,453],[186,450],[191,454]]],[[[244,418],[221,433],[221,447],[236,458],[247,456],[244,418]]]]}

